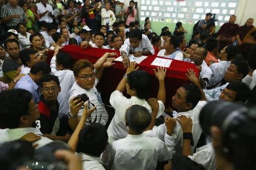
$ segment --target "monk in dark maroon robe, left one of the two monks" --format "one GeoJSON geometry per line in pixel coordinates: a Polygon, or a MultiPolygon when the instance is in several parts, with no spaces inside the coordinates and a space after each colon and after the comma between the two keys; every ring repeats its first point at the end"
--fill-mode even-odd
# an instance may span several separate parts
{"type": "Polygon", "coordinates": [[[236,15],[231,15],[229,22],[224,23],[218,31],[218,36],[220,36],[220,49],[236,41],[236,32],[239,28],[239,25],[235,24],[236,19],[236,15]]]}

